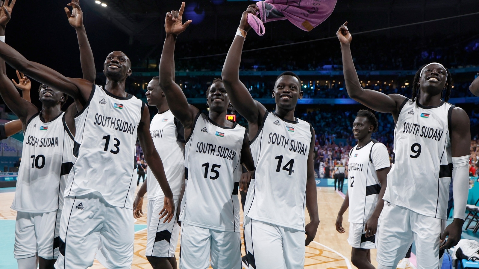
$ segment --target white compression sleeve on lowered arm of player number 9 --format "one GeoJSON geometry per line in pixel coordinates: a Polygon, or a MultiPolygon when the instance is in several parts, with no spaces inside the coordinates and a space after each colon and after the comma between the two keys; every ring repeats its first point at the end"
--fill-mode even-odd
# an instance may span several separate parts
{"type": "Polygon", "coordinates": [[[452,165],[454,218],[463,220],[469,193],[469,155],[452,157],[452,165]]]}

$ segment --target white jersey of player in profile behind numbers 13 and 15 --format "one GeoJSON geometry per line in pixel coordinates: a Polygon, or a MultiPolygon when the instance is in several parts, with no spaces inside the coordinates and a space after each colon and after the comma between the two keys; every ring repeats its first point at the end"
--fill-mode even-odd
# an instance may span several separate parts
{"type": "MultiPolygon", "coordinates": [[[[170,184],[171,192],[173,192],[173,195],[180,195],[184,177],[184,155],[183,145],[178,141],[178,135],[183,137],[183,134],[178,134],[176,126],[175,117],[170,110],[161,114],[158,113],[151,120],[150,134],[163,162],[163,168],[165,169],[166,179],[168,179],[168,184],[170,184]]],[[[182,128],[180,128],[180,131],[183,132],[182,128]]],[[[151,169],[148,169],[147,175],[148,200],[164,196],[160,184],[151,172],[151,169]]]]}

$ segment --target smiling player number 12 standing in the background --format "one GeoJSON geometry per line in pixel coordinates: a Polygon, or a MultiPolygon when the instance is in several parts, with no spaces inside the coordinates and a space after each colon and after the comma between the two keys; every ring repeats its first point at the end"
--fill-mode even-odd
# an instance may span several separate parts
{"type": "Polygon", "coordinates": [[[376,131],[377,119],[374,114],[360,110],[353,122],[357,145],[349,152],[348,192],[336,219],[336,230],[345,233],[342,215],[349,207],[351,262],[359,269],[374,269],[371,248],[376,248],[378,218],[384,205],[386,177],[390,169],[388,149],[371,139],[376,131]]]}

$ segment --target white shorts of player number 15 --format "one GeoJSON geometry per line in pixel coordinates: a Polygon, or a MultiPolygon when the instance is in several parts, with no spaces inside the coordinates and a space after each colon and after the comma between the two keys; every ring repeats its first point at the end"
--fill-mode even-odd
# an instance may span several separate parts
{"type": "Polygon", "coordinates": [[[238,232],[223,232],[182,222],[180,269],[241,269],[238,232]]]}

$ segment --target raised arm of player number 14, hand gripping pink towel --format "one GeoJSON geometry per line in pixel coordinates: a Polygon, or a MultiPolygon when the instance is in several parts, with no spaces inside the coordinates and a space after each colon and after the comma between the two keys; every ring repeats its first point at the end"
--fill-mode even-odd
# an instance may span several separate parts
{"type": "MultiPolygon", "coordinates": [[[[248,13],[255,14],[258,7],[256,5],[250,5],[241,16],[239,22],[238,31],[244,34],[251,29],[248,23],[248,13]]],[[[229,47],[228,55],[221,71],[221,78],[223,84],[228,92],[229,100],[233,107],[243,116],[248,123],[260,125],[264,113],[267,112],[266,108],[258,101],[255,101],[248,89],[239,80],[239,65],[241,63],[241,52],[243,51],[243,44],[245,38],[241,35],[236,35],[233,39],[233,43],[229,47]]],[[[251,125],[251,124],[250,124],[251,125]]],[[[255,133],[251,133],[254,136],[255,133]]]]}

